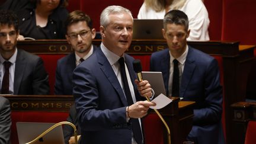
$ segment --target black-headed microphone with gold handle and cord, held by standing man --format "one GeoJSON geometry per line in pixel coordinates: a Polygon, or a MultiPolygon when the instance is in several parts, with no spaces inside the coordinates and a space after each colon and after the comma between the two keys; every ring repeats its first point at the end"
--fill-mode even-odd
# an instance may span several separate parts
{"type": "MultiPolygon", "coordinates": [[[[139,59],[133,60],[133,70],[137,73],[137,78],[141,82],[142,81],[142,66],[139,59]]],[[[150,101],[148,97],[144,96],[146,100],[150,101]]],[[[155,113],[158,115],[158,117],[162,120],[162,123],[164,123],[165,128],[167,129],[168,133],[168,144],[171,144],[171,132],[169,130],[168,124],[164,120],[164,118],[161,116],[158,110],[153,109],[155,113]]]]}

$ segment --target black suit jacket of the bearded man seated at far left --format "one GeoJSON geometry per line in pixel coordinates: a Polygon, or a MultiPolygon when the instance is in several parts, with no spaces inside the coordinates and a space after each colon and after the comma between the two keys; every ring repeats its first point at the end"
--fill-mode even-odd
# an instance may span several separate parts
{"type": "Polygon", "coordinates": [[[41,57],[17,49],[14,72],[15,95],[49,95],[49,79],[41,57]]]}

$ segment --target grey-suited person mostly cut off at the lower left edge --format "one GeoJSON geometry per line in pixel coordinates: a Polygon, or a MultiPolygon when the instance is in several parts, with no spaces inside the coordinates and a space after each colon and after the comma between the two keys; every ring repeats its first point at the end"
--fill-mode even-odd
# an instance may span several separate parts
{"type": "Polygon", "coordinates": [[[0,143],[8,144],[11,136],[11,108],[7,98],[0,97],[0,143]]]}

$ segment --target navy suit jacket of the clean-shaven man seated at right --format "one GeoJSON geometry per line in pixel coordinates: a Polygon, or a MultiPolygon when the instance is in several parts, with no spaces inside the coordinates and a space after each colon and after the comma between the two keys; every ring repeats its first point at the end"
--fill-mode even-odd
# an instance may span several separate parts
{"type": "MultiPolygon", "coordinates": [[[[151,56],[151,71],[162,72],[168,94],[169,49],[151,56]]],[[[180,97],[196,101],[193,128],[188,135],[198,143],[225,143],[222,132],[222,86],[217,60],[188,46],[180,84],[180,97]]]]}

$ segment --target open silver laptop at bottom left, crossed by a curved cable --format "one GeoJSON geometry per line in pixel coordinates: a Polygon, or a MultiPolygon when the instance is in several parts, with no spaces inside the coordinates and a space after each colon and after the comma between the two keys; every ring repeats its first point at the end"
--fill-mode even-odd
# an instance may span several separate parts
{"type": "MultiPolygon", "coordinates": [[[[49,129],[55,123],[28,123],[17,122],[18,141],[20,144],[28,143],[37,136],[41,135],[45,130],[49,129]]],[[[64,137],[62,132],[62,126],[57,126],[55,129],[40,137],[37,142],[33,144],[64,144],[64,137]]]]}

